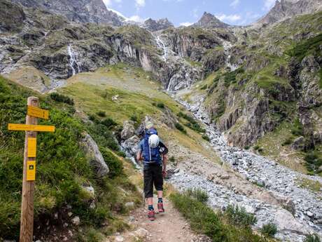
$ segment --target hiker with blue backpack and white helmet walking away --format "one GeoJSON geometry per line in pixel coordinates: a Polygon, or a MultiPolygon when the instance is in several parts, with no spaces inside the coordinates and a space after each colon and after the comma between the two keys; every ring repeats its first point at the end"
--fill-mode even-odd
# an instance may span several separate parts
{"type": "Polygon", "coordinates": [[[137,161],[144,162],[144,199],[148,200],[148,219],[155,220],[153,208],[153,184],[158,191],[158,211],[165,213],[163,206],[163,178],[167,175],[168,149],[158,136],[153,123],[146,122],[144,138],[139,143],[137,161]]]}

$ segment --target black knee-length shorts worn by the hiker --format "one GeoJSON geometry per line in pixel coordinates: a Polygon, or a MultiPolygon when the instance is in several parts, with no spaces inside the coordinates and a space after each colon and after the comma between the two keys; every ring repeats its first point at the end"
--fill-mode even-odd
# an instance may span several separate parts
{"type": "Polygon", "coordinates": [[[163,191],[162,164],[144,165],[144,196],[153,197],[153,184],[157,191],[163,191]]]}

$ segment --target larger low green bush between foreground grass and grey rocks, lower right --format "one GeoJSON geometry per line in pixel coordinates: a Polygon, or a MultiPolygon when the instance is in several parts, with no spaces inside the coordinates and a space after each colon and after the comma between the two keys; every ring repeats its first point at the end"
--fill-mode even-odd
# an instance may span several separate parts
{"type": "Polygon", "coordinates": [[[257,222],[255,215],[247,213],[245,208],[239,208],[239,206],[229,205],[225,210],[225,215],[228,217],[230,223],[237,226],[247,227],[257,222]]]}

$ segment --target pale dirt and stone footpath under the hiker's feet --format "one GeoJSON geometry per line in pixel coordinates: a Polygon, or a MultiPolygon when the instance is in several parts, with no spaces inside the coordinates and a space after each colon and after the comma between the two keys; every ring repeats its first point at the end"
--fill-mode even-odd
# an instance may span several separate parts
{"type": "Polygon", "coordinates": [[[148,221],[146,208],[137,208],[130,215],[130,224],[134,229],[111,236],[106,242],[211,242],[209,238],[195,234],[170,201],[165,199],[164,202],[166,213],[157,214],[155,221],[148,221]]]}

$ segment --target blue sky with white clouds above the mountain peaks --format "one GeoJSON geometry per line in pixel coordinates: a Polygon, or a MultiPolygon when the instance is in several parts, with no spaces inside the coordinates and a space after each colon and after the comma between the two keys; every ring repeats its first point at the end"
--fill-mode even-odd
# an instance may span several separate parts
{"type": "Polygon", "coordinates": [[[247,25],[269,11],[276,0],[103,0],[108,8],[135,21],[168,18],[174,25],[197,22],[207,11],[231,25],[247,25]]]}

